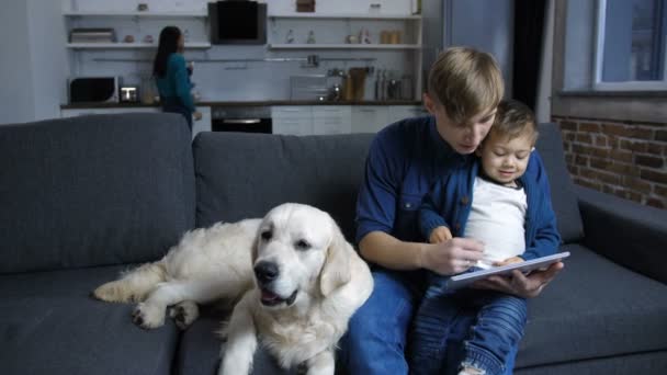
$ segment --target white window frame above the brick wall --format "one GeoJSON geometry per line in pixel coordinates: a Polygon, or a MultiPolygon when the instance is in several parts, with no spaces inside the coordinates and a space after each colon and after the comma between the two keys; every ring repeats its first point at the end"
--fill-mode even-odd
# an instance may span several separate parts
{"type": "MultiPolygon", "coordinates": [[[[660,81],[623,81],[604,82],[602,81],[602,57],[604,56],[604,25],[607,22],[607,0],[597,2],[596,22],[596,50],[595,50],[595,71],[592,88],[596,91],[667,91],[667,38],[663,54],[663,80],[660,81]]],[[[665,25],[667,27],[667,25],[665,25]]]]}

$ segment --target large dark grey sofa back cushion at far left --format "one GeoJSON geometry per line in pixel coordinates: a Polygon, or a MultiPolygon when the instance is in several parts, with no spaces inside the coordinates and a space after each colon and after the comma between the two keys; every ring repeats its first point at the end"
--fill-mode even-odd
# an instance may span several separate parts
{"type": "Polygon", "coordinates": [[[194,226],[176,114],[0,126],[0,273],[159,259],[194,226]]]}

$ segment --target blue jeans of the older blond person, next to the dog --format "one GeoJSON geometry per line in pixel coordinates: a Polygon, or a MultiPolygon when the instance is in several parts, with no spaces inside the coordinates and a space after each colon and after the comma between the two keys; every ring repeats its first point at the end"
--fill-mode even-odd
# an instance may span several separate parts
{"type": "MultiPolygon", "coordinates": [[[[366,303],[352,316],[340,341],[337,373],[351,375],[406,375],[409,372],[406,351],[419,342],[408,342],[412,316],[423,296],[423,272],[373,271],[375,286],[366,303]]],[[[445,372],[455,374],[462,360],[463,339],[475,316],[460,316],[450,330],[445,372]]],[[[412,341],[412,340],[411,340],[412,341]]],[[[511,375],[516,349],[508,355],[511,375]]]]}

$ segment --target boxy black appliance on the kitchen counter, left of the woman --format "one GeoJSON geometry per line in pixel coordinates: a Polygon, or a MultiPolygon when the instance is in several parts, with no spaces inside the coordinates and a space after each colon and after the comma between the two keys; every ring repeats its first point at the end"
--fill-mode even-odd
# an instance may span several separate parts
{"type": "Polygon", "coordinates": [[[68,84],[70,103],[116,103],[118,92],[118,77],[76,77],[68,84]]]}

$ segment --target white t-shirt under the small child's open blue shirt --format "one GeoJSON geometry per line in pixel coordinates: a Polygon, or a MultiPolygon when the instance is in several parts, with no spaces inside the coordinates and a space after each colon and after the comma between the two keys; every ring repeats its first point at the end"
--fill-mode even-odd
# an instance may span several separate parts
{"type": "Polygon", "coordinates": [[[473,206],[465,237],[484,242],[484,259],[476,266],[489,269],[494,262],[525,251],[525,209],[523,188],[509,188],[475,178],[473,206]]]}

